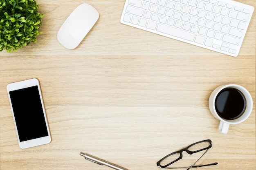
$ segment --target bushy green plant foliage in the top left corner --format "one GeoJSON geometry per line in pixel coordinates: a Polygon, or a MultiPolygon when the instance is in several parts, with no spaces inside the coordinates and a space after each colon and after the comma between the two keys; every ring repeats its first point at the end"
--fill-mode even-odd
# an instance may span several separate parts
{"type": "Polygon", "coordinates": [[[0,0],[0,51],[17,51],[36,42],[42,24],[35,0],[0,0]]]}

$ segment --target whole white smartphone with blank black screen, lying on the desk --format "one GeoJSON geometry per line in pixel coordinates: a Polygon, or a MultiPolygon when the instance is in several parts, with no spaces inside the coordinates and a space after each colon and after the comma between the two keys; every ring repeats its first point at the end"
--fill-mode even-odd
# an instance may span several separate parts
{"type": "Polygon", "coordinates": [[[7,92],[20,148],[49,144],[52,139],[38,79],[8,84],[7,92]]]}

